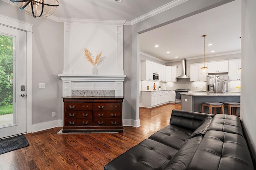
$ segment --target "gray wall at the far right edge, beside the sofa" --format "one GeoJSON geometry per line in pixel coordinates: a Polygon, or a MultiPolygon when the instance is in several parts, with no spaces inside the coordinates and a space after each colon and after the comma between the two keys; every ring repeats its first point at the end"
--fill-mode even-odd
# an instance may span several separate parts
{"type": "Polygon", "coordinates": [[[256,168],[256,1],[242,0],[241,119],[256,168]]]}

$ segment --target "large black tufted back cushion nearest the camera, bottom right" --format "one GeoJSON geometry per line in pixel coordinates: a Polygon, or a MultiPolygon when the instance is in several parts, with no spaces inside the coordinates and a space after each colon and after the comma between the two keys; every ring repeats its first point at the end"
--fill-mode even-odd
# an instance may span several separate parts
{"type": "Polygon", "coordinates": [[[244,137],[223,131],[207,131],[188,170],[253,170],[244,137]]]}

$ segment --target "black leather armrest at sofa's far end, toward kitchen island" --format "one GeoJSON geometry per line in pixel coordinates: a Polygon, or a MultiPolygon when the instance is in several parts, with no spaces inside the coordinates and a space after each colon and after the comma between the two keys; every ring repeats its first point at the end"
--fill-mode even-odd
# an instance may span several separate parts
{"type": "Polygon", "coordinates": [[[196,130],[200,123],[208,116],[214,115],[193,111],[172,110],[170,125],[178,125],[191,130],[196,130]]]}

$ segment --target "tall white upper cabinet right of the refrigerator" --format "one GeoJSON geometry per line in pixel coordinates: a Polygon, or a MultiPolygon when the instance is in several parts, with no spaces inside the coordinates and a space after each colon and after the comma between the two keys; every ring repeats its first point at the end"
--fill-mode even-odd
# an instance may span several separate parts
{"type": "Polygon", "coordinates": [[[228,80],[241,79],[241,74],[238,73],[238,68],[241,68],[241,59],[228,61],[228,80]]]}

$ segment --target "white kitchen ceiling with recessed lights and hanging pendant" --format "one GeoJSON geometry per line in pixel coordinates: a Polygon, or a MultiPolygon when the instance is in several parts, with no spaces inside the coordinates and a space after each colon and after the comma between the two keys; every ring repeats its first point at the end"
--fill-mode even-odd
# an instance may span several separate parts
{"type": "Polygon", "coordinates": [[[140,35],[140,51],[162,61],[240,53],[241,1],[236,0],[140,35]],[[212,46],[208,46],[211,43],[212,46]],[[154,47],[155,45],[159,47],[154,47]],[[166,52],[170,53],[167,54],[166,52]],[[215,51],[211,53],[211,51],[215,51]],[[178,56],[178,58],[174,58],[178,56]]]}

